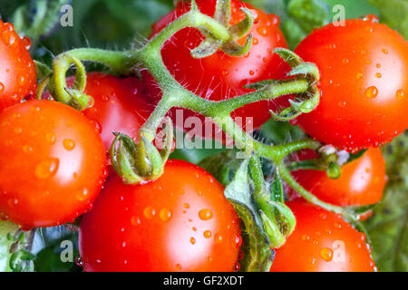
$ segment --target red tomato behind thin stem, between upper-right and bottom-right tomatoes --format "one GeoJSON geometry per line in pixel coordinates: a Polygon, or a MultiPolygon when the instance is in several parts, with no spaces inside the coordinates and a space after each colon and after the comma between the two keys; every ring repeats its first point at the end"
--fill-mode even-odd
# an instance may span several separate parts
{"type": "Polygon", "coordinates": [[[319,170],[296,170],[292,174],[300,185],[325,202],[341,207],[364,206],[383,197],[385,160],[381,150],[375,148],[345,164],[339,179],[330,179],[319,170]]]}

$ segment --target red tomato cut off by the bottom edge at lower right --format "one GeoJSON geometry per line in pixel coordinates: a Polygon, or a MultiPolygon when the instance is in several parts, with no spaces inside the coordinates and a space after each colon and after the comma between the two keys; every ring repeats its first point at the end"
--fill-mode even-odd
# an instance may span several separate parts
{"type": "Polygon", "coordinates": [[[363,233],[340,216],[304,201],[287,205],[296,228],[277,249],[271,272],[373,272],[374,262],[363,233]]]}

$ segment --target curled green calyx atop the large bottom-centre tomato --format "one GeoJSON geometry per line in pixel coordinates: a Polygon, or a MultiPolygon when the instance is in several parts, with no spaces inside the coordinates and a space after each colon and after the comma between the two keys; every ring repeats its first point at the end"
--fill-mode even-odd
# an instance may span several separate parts
{"type": "Polygon", "coordinates": [[[153,145],[151,136],[142,130],[137,144],[125,134],[113,133],[116,138],[110,150],[112,167],[124,183],[138,184],[143,180],[154,180],[160,177],[173,145],[170,118],[166,118],[164,130],[165,138],[160,151],[153,145]]]}

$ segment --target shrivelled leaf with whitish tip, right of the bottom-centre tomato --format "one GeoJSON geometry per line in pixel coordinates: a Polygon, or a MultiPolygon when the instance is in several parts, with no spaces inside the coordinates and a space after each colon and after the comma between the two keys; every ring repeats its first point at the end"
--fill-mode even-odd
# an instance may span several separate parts
{"type": "Polygon", "coordinates": [[[262,220],[257,206],[252,200],[248,160],[244,160],[232,182],[225,189],[226,198],[236,209],[241,218],[242,237],[244,240],[243,259],[240,270],[244,272],[268,272],[272,265],[273,250],[269,248],[267,236],[263,231],[262,220]]]}

